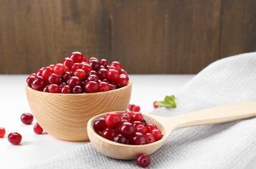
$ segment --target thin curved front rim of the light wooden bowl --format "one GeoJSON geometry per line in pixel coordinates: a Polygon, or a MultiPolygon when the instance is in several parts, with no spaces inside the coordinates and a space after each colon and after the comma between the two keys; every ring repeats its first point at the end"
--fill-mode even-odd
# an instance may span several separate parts
{"type": "Polygon", "coordinates": [[[117,88],[115,90],[109,90],[109,91],[106,91],[106,92],[95,92],[95,93],[83,93],[83,94],[61,94],[61,93],[50,93],[50,92],[42,92],[42,91],[38,91],[38,90],[35,90],[33,88],[31,88],[29,85],[25,85],[25,89],[26,90],[31,90],[33,92],[40,92],[42,94],[49,94],[49,95],[55,95],[55,96],[88,96],[88,95],[96,95],[96,94],[109,94],[111,92],[117,92],[117,91],[120,91],[120,90],[125,90],[126,88],[130,88],[132,87],[132,81],[129,81],[128,85],[126,86],[123,86],[121,88],[117,88]]]}

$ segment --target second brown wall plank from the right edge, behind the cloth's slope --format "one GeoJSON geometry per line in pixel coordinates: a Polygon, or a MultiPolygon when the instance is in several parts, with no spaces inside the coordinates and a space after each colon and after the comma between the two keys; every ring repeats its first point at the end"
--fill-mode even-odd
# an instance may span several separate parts
{"type": "Polygon", "coordinates": [[[218,60],[221,0],[171,0],[165,10],[165,73],[197,73],[218,60]]]}

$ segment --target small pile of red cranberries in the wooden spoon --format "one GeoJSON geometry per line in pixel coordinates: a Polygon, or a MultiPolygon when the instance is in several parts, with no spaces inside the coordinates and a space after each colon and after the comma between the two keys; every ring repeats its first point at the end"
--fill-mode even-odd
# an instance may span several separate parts
{"type": "Polygon", "coordinates": [[[98,135],[121,144],[150,144],[162,138],[162,132],[154,123],[147,123],[140,112],[130,110],[122,114],[109,112],[97,118],[93,127],[98,135]]]}

